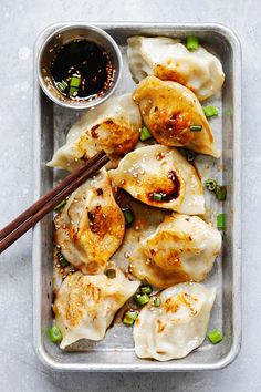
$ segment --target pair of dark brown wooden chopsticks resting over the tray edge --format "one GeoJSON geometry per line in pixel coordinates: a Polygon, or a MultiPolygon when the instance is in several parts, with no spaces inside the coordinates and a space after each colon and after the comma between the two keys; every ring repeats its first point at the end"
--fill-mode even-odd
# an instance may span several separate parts
{"type": "Polygon", "coordinates": [[[25,209],[0,231],[0,254],[20,238],[25,231],[41,220],[87,178],[100,171],[108,157],[104,151],[88,159],[81,168],[66,176],[48,194],[25,209]]]}

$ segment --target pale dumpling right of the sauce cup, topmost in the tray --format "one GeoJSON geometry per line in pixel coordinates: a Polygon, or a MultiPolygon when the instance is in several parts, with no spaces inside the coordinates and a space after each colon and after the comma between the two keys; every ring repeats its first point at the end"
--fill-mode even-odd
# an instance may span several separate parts
{"type": "Polygon", "coordinates": [[[220,61],[201,45],[189,51],[180,40],[167,37],[132,37],[127,42],[129,69],[136,82],[154,74],[186,85],[200,101],[216,94],[223,84],[220,61]]]}

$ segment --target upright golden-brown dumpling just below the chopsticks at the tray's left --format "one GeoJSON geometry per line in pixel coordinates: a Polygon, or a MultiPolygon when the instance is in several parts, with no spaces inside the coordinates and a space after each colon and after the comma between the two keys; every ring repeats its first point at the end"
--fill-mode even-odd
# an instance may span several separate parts
{"type": "Polygon", "coordinates": [[[117,250],[125,233],[106,169],[80,186],[55,217],[55,244],[85,274],[100,274],[117,250]]]}

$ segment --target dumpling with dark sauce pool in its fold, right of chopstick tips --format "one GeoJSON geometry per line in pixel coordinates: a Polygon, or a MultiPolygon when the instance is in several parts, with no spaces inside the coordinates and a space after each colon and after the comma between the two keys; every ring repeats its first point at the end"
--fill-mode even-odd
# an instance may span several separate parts
{"type": "Polygon", "coordinates": [[[133,197],[154,207],[184,214],[203,214],[203,189],[192,165],[176,149],[158,144],[127,154],[113,182],[133,197]]]}

